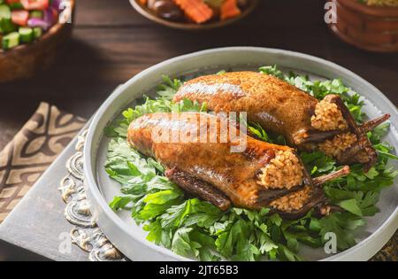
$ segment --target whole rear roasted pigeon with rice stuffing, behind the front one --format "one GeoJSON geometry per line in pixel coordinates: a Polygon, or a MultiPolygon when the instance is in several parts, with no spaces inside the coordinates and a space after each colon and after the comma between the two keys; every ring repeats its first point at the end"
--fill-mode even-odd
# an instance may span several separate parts
{"type": "Polygon", "coordinates": [[[361,162],[367,163],[368,168],[377,159],[366,135],[335,94],[318,102],[271,75],[232,72],[201,76],[184,83],[173,101],[183,98],[206,103],[210,111],[247,112],[249,121],[285,136],[290,146],[302,151],[320,147],[341,164],[361,162]],[[348,131],[356,135],[354,142],[347,135],[336,136],[348,131]],[[343,151],[349,151],[348,155],[343,151]]]}

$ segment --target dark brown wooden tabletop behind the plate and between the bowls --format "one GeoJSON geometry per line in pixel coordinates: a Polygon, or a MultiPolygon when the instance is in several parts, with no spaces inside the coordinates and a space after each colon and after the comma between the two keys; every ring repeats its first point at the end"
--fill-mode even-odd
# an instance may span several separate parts
{"type": "Polygon", "coordinates": [[[142,18],[128,0],[78,0],[73,39],[48,72],[0,85],[0,150],[41,101],[89,117],[112,89],[142,69],[180,54],[250,45],[302,51],[345,66],[398,105],[398,54],[341,43],[327,29],[322,0],[262,0],[231,27],[184,32],[142,18]]]}

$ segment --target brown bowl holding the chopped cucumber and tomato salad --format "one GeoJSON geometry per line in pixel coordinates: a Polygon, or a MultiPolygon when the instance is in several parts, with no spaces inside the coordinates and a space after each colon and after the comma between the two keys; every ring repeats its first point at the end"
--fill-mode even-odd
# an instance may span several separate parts
{"type": "Polygon", "coordinates": [[[74,0],[69,0],[59,22],[33,43],[21,44],[11,50],[0,50],[0,82],[27,79],[49,68],[57,58],[57,52],[72,35],[74,0]]]}

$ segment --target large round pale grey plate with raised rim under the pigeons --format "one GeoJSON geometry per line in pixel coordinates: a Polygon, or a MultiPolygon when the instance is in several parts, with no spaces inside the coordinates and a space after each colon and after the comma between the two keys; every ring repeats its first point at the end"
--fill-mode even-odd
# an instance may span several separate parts
{"type": "MultiPolygon", "coordinates": [[[[341,80],[365,98],[364,111],[371,117],[382,112],[391,114],[392,127],[387,141],[398,147],[398,134],[394,124],[398,123],[398,112],[394,105],[369,82],[324,59],[302,53],[251,47],[233,47],[195,52],[172,58],[137,74],[117,89],[100,107],[88,130],[84,150],[84,174],[91,212],[98,226],[111,242],[131,260],[189,260],[168,249],[152,244],[145,239],[145,232],[130,217],[130,213],[114,213],[108,206],[120,186],[111,181],[104,172],[108,140],[103,128],[119,118],[120,112],[143,94],[154,92],[161,82],[161,75],[171,77],[191,74],[216,73],[219,70],[257,70],[258,66],[278,65],[281,69],[309,74],[311,78],[341,80]]],[[[395,166],[397,167],[397,166],[395,166]]],[[[302,249],[308,260],[369,260],[398,227],[398,184],[384,190],[379,201],[380,213],[367,219],[367,225],[358,231],[358,244],[345,252],[326,255],[322,249],[302,249]]],[[[304,247],[304,246],[302,246],[304,247]]]]}

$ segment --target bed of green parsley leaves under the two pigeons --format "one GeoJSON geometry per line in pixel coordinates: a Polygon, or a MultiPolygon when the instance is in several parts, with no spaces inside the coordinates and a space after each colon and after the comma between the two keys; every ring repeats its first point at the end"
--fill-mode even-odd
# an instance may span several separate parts
{"type": "MultiPolygon", "coordinates": [[[[307,76],[283,74],[276,66],[261,67],[260,72],[290,82],[318,99],[329,93],[340,94],[356,121],[361,123],[365,117],[361,97],[340,80],[310,81],[307,76]]],[[[381,141],[388,123],[368,135],[379,151],[378,163],[368,173],[362,165],[354,165],[347,177],[324,185],[326,197],[344,208],[344,213],[319,219],[310,212],[296,221],[283,220],[267,208],[255,212],[234,207],[223,213],[198,198],[185,198],[184,192],[164,176],[163,166],[126,143],[129,123],[145,113],[206,112],[205,105],[188,100],[172,104],[182,81],[166,76],[164,81],[156,98],[146,97],[143,105],[127,109],[123,120],[105,129],[111,137],[105,169],[121,184],[121,195],[110,206],[114,211],[130,210],[134,220],[148,231],[149,241],[199,260],[305,260],[298,255],[300,246],[322,247],[329,240],[324,238],[327,232],[336,234],[339,251],[356,244],[354,231],[364,226],[365,216],[378,213],[379,193],[394,183],[397,174],[387,167],[389,159],[398,159],[392,154],[393,147],[381,141]]],[[[284,144],[282,136],[270,135],[256,123],[249,123],[249,130],[264,141],[284,144]]],[[[313,177],[339,169],[333,159],[319,151],[300,156],[313,177]]]]}

